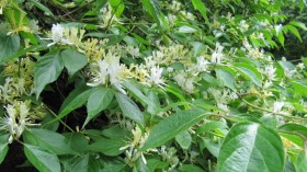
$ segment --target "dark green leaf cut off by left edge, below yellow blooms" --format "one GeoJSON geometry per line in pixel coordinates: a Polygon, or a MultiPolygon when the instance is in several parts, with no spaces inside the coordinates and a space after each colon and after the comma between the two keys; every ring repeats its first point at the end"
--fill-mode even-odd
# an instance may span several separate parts
{"type": "Polygon", "coordinates": [[[19,35],[7,35],[7,33],[0,33],[0,61],[5,60],[10,56],[18,53],[20,48],[19,35]]]}

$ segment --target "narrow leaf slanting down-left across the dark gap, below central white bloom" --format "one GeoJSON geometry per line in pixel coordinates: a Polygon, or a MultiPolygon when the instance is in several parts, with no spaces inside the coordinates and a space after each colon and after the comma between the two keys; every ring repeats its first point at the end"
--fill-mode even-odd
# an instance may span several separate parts
{"type": "Polygon", "coordinates": [[[62,106],[60,107],[60,113],[56,119],[65,117],[67,114],[72,112],[76,108],[81,107],[88,101],[92,90],[80,90],[76,89],[72,91],[64,101],[62,106]]]}

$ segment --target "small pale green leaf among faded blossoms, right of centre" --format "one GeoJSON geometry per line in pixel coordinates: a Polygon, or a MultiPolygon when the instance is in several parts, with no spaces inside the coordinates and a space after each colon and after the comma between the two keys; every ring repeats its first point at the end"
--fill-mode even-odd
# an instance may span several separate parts
{"type": "Polygon", "coordinates": [[[220,68],[216,68],[215,69],[216,72],[216,77],[218,80],[220,80],[223,82],[223,84],[231,90],[236,90],[235,89],[235,77],[228,72],[227,70],[223,70],[220,68]]]}

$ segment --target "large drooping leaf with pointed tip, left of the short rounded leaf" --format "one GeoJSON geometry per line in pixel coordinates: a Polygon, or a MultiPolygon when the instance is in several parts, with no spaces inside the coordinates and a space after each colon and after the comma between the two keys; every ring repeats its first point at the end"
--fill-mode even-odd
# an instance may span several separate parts
{"type": "Polygon", "coordinates": [[[59,51],[49,53],[38,59],[34,71],[36,99],[38,99],[46,84],[58,78],[62,69],[64,65],[59,51]]]}

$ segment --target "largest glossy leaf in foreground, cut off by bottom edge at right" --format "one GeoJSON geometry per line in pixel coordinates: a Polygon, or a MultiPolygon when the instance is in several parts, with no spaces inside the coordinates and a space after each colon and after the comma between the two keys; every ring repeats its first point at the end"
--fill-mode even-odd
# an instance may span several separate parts
{"type": "Polygon", "coordinates": [[[235,125],[217,158],[219,172],[284,171],[285,152],[278,134],[254,123],[235,125]]]}

